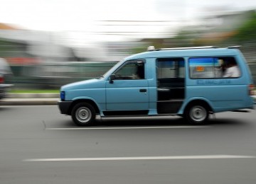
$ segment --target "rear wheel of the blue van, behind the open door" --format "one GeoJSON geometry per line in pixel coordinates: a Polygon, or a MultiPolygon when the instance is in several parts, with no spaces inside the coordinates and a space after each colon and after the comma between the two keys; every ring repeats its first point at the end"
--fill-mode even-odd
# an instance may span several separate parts
{"type": "Polygon", "coordinates": [[[191,104],[186,108],[184,116],[193,125],[206,125],[209,117],[208,106],[204,103],[191,104]]]}

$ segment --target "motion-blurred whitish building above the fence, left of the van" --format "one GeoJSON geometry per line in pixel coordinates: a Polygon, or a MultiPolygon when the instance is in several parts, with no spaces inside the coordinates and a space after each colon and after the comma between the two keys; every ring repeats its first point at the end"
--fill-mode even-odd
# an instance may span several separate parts
{"type": "Polygon", "coordinates": [[[68,39],[62,33],[23,30],[0,23],[0,57],[11,64],[110,62],[126,57],[126,51],[133,46],[129,42],[75,45],[68,39]]]}

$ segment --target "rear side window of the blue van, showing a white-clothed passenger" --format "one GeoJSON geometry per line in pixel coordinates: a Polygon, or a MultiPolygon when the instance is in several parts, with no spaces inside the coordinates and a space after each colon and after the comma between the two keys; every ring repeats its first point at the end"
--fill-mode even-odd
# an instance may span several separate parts
{"type": "Polygon", "coordinates": [[[237,78],[235,57],[193,57],[188,60],[191,79],[237,78]]]}

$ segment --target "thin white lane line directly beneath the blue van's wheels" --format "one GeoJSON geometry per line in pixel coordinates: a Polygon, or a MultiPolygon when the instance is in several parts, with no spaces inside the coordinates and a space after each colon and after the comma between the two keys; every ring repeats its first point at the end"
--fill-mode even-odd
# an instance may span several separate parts
{"type": "Polygon", "coordinates": [[[46,130],[125,130],[125,129],[164,129],[164,128],[208,128],[210,126],[146,126],[146,127],[78,127],[46,128],[46,130]]]}

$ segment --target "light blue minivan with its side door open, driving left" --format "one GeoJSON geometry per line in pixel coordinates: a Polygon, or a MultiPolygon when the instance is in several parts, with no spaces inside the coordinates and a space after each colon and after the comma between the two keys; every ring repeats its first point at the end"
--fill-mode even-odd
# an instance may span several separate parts
{"type": "Polygon", "coordinates": [[[210,113],[254,108],[253,88],[238,47],[150,46],[98,79],[62,86],[58,107],[80,126],[92,125],[96,115],[180,115],[202,125],[210,113]]]}

